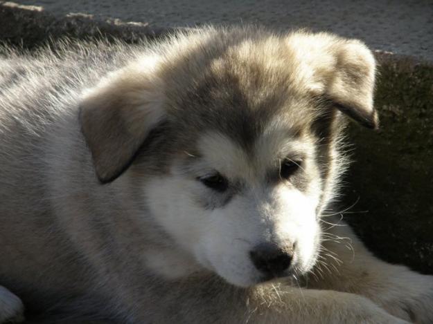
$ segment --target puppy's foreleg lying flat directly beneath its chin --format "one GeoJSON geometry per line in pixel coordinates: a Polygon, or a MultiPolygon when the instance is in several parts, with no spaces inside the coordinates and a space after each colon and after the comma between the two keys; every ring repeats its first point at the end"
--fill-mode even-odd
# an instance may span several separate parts
{"type": "Polygon", "coordinates": [[[169,298],[153,298],[164,305],[161,312],[137,314],[134,323],[409,324],[364,296],[301,289],[284,279],[243,289],[213,276],[192,276],[162,291],[169,298]]]}

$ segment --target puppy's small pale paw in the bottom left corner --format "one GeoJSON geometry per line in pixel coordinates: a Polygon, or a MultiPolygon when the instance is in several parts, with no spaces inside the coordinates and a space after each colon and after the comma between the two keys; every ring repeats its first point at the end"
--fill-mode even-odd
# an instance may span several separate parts
{"type": "Polygon", "coordinates": [[[0,324],[24,321],[24,305],[5,287],[0,286],[0,324]]]}

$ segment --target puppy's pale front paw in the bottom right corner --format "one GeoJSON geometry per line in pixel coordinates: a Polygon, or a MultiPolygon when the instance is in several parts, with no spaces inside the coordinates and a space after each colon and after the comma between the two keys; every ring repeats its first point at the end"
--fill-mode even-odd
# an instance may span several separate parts
{"type": "Polygon", "coordinates": [[[407,270],[393,282],[378,296],[380,306],[412,323],[433,323],[433,276],[407,270]]]}

